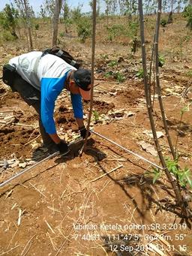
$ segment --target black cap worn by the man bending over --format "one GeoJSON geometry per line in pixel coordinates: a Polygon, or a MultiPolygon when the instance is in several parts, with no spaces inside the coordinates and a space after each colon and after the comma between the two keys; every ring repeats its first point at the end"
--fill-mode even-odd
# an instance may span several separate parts
{"type": "Polygon", "coordinates": [[[91,84],[91,71],[88,69],[78,69],[74,71],[74,81],[84,91],[89,91],[88,86],[91,84]]]}

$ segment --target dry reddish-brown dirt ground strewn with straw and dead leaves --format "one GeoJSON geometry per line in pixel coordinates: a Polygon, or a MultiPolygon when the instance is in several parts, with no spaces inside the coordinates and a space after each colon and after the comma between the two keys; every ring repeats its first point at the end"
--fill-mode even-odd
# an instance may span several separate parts
{"type": "MultiPolygon", "coordinates": [[[[191,89],[186,91],[192,80],[187,75],[192,70],[192,50],[187,45],[192,42],[184,45],[182,55],[171,54],[171,42],[177,40],[176,26],[172,25],[164,34],[161,31],[160,50],[167,55],[165,65],[160,68],[160,82],[169,133],[180,155],[179,164],[191,169],[191,107],[182,119],[181,110],[192,99],[191,89]]],[[[71,42],[68,44],[70,47],[71,42]]],[[[11,57],[11,47],[14,56],[17,47],[0,48],[1,53],[7,49],[1,65],[11,57]]],[[[89,44],[74,47],[72,53],[78,49],[83,65],[90,67],[90,60],[84,55],[85,49],[91,52],[89,44]]],[[[126,50],[127,46],[122,44],[116,47],[98,43],[96,47],[92,128],[159,165],[149,134],[143,82],[135,76],[134,68],[138,70],[141,65],[140,53],[130,59],[126,50]],[[109,55],[105,61],[104,54],[109,55]],[[122,58],[117,68],[126,74],[124,83],[107,78],[100,71],[101,68],[110,71],[107,62],[117,56],[122,58]],[[144,144],[151,146],[151,150],[143,149],[144,144]]],[[[179,52],[179,47],[173,50],[179,52]]],[[[22,52],[20,49],[19,53],[22,52]]],[[[3,182],[45,158],[47,152],[41,145],[37,113],[17,92],[11,92],[2,82],[0,86],[0,182],[3,182]],[[5,161],[9,163],[7,168],[5,161]]],[[[88,103],[84,103],[84,110],[86,119],[88,103]]],[[[159,139],[163,154],[170,156],[157,95],[154,95],[154,120],[157,131],[163,133],[159,139]]],[[[69,143],[78,140],[66,92],[56,102],[55,122],[61,137],[69,143]]],[[[81,141],[75,143],[70,155],[43,161],[0,189],[0,255],[192,255],[191,223],[181,218],[178,209],[172,212],[174,193],[166,176],[153,184],[153,177],[147,174],[153,171],[151,164],[96,134],[89,138],[82,156],[78,155],[81,146],[81,141]]]]}

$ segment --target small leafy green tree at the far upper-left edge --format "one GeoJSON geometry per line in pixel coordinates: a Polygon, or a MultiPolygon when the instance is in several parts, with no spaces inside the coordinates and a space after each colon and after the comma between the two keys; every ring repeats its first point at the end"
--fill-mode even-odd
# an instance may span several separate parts
{"type": "Polygon", "coordinates": [[[18,22],[19,13],[13,7],[13,4],[5,5],[5,8],[0,13],[0,24],[3,29],[8,30],[13,38],[18,38],[16,34],[16,26],[18,22]]]}

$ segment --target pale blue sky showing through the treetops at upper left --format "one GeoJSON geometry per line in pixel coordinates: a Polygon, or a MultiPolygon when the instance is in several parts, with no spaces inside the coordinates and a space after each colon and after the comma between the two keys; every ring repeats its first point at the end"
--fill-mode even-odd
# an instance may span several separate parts
{"type": "MultiPolygon", "coordinates": [[[[0,11],[5,8],[6,4],[10,4],[10,2],[14,2],[13,0],[0,0],[0,11]]],[[[40,11],[40,5],[44,2],[44,0],[28,0],[29,4],[32,6],[35,13],[40,11]]],[[[89,1],[86,0],[68,0],[68,5],[73,8],[77,7],[77,5],[80,3],[80,5],[83,5],[82,11],[83,13],[91,11],[91,8],[89,6],[89,1]]]]}

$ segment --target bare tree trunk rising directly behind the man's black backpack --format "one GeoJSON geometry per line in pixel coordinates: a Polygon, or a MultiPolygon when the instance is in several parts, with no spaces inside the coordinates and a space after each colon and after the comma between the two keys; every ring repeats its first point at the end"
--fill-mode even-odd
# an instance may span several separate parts
{"type": "Polygon", "coordinates": [[[55,0],[54,14],[52,17],[52,47],[57,44],[58,20],[62,8],[62,0],[55,0]]]}

